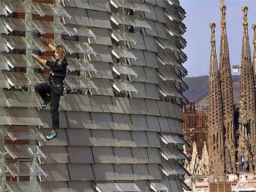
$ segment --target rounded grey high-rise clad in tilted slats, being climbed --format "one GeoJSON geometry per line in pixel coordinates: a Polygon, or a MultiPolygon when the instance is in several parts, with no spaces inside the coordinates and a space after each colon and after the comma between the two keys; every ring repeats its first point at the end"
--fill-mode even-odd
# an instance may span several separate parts
{"type": "Polygon", "coordinates": [[[177,0],[1,0],[0,191],[182,191],[182,78],[177,0]],[[69,94],[58,138],[34,88],[67,49],[69,94]]]}

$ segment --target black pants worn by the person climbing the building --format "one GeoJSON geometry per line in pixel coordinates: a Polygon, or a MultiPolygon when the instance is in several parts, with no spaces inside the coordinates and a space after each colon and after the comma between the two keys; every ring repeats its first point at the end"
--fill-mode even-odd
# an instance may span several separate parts
{"type": "Polygon", "coordinates": [[[53,129],[59,128],[59,100],[61,99],[59,89],[53,84],[41,83],[35,86],[35,91],[41,96],[43,101],[48,101],[48,99],[51,101],[50,109],[53,129]]]}

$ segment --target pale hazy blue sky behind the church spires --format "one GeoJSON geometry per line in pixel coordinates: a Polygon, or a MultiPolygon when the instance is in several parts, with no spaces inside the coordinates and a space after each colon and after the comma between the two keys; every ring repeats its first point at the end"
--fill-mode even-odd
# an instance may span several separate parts
{"type": "MultiPolygon", "coordinates": [[[[216,52],[220,54],[220,7],[219,0],[180,0],[186,10],[187,17],[183,20],[187,32],[183,37],[187,47],[183,50],[188,59],[184,67],[188,70],[187,77],[208,75],[210,58],[210,22],[216,23],[216,52]]],[[[242,47],[242,6],[248,6],[248,28],[250,49],[253,53],[252,24],[256,23],[256,0],[226,0],[226,22],[231,65],[241,62],[242,47]]]]}

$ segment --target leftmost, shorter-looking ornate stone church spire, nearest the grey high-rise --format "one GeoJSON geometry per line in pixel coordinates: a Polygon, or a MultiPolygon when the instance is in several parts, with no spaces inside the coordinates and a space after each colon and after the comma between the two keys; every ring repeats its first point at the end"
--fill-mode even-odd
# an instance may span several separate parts
{"type": "Polygon", "coordinates": [[[218,71],[216,46],[215,46],[215,23],[211,27],[211,55],[208,87],[208,154],[210,173],[224,172],[224,134],[223,134],[223,111],[221,102],[220,73],[218,71]]]}

